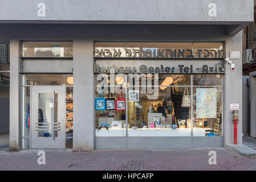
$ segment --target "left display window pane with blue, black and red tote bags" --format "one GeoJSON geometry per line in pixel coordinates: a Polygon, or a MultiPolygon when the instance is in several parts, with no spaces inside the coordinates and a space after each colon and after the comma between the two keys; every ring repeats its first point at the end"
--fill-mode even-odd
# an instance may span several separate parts
{"type": "Polygon", "coordinates": [[[125,76],[99,74],[95,82],[96,137],[125,137],[125,76]]]}

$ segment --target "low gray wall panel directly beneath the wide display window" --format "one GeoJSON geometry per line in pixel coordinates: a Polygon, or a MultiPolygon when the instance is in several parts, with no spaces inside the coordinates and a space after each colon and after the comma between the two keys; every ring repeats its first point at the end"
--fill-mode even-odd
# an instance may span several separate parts
{"type": "Polygon", "coordinates": [[[224,147],[224,137],[96,137],[95,140],[96,149],[177,149],[224,147]]]}

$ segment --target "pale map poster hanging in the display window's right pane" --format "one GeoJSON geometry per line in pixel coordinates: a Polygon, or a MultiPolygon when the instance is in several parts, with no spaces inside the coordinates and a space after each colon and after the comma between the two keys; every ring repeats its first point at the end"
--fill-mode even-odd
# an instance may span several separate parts
{"type": "Polygon", "coordinates": [[[217,115],[217,89],[197,88],[197,118],[216,118],[217,115]]]}

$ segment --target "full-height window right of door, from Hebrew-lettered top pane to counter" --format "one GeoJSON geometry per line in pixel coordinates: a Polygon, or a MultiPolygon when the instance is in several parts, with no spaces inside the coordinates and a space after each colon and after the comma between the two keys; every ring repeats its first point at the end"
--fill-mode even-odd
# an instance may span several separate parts
{"type": "Polygon", "coordinates": [[[94,54],[96,137],[222,136],[224,43],[95,42],[94,54]],[[125,109],[107,110],[119,88],[125,109]]]}

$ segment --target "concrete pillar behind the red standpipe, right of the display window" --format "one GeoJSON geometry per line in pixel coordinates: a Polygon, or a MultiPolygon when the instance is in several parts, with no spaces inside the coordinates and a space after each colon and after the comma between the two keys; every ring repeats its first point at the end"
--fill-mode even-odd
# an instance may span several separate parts
{"type": "Polygon", "coordinates": [[[237,35],[226,39],[226,57],[230,57],[230,51],[240,51],[240,59],[233,59],[235,69],[230,69],[230,64],[225,64],[226,74],[223,78],[224,84],[224,144],[234,144],[234,125],[232,122],[232,110],[230,104],[239,104],[239,123],[237,126],[237,143],[242,144],[242,31],[237,35]]]}

